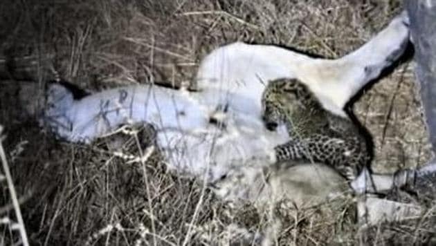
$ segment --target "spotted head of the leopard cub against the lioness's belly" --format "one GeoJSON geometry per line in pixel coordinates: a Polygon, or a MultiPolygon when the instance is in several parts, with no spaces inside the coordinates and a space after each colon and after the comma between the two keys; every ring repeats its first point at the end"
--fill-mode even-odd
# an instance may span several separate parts
{"type": "Polygon", "coordinates": [[[311,93],[298,79],[275,79],[262,94],[262,120],[267,129],[275,129],[297,111],[307,107],[311,93]]]}

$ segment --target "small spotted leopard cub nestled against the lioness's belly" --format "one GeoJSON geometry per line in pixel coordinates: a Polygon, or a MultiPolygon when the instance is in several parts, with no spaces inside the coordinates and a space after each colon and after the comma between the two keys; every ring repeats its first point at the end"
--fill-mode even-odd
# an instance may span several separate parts
{"type": "Polygon", "coordinates": [[[285,124],[291,137],[275,146],[278,161],[323,162],[350,181],[370,162],[370,149],[358,125],[323,108],[298,79],[269,82],[262,95],[262,117],[271,131],[285,124]]]}

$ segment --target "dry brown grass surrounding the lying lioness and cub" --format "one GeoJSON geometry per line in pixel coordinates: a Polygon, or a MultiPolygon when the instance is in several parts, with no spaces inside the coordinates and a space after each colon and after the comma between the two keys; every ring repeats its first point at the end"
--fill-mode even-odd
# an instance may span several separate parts
{"type": "MultiPolygon", "coordinates": [[[[239,40],[339,57],[400,10],[401,1],[375,0],[3,0],[0,77],[32,80],[35,94],[53,70],[90,91],[150,82],[177,86],[191,82],[199,59],[217,46],[239,40]]],[[[354,106],[374,136],[376,171],[417,167],[430,158],[413,79],[412,64],[401,64],[354,106]]],[[[194,233],[197,227],[209,225],[203,236],[216,239],[214,228],[232,223],[253,234],[242,245],[257,243],[266,215],[253,206],[229,216],[199,182],[165,171],[156,153],[146,163],[127,163],[104,140],[57,142],[20,116],[13,81],[0,89],[0,124],[31,245],[218,245],[194,233]]],[[[135,153],[149,146],[129,141],[135,153]]],[[[0,218],[15,219],[4,184],[0,218]]],[[[315,217],[282,215],[280,245],[435,243],[434,223],[427,220],[362,233],[346,216],[315,217]]],[[[0,223],[0,245],[16,240],[0,223]]]]}

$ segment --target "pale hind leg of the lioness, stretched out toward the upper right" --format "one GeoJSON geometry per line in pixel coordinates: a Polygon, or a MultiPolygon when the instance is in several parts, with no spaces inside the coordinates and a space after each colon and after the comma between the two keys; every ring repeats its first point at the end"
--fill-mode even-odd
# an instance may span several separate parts
{"type": "Polygon", "coordinates": [[[363,86],[403,55],[408,41],[408,16],[403,12],[361,48],[339,59],[312,60],[296,72],[297,77],[323,100],[323,106],[343,108],[363,86]]]}

